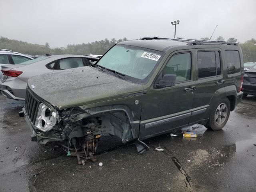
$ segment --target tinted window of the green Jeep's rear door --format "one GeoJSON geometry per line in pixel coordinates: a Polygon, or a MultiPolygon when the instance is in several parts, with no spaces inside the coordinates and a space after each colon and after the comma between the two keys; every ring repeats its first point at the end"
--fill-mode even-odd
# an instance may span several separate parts
{"type": "Polygon", "coordinates": [[[220,53],[203,51],[197,53],[198,78],[220,75],[220,53]]]}

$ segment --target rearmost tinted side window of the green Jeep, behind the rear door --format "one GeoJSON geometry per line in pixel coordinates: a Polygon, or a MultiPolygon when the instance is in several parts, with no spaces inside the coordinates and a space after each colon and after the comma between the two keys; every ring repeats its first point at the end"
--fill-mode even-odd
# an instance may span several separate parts
{"type": "Polygon", "coordinates": [[[238,73],[240,72],[241,64],[239,53],[236,50],[225,51],[227,57],[227,69],[228,74],[238,73]]]}

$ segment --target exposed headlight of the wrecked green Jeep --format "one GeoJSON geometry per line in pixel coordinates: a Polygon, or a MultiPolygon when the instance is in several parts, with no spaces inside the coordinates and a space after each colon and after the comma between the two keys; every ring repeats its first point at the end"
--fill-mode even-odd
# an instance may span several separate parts
{"type": "Polygon", "coordinates": [[[49,131],[57,123],[58,117],[59,116],[57,111],[51,111],[48,106],[41,103],[38,108],[35,125],[39,130],[43,132],[49,131]]]}

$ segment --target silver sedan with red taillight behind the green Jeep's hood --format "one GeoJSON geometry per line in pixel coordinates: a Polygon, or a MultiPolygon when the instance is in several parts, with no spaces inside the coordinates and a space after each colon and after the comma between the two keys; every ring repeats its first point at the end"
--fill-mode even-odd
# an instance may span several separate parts
{"type": "MultiPolygon", "coordinates": [[[[0,87],[3,96],[25,100],[27,81],[32,76],[95,64],[98,58],[82,55],[43,56],[17,65],[2,65],[0,87]]],[[[70,77],[72,78],[72,77],[70,77]]]]}

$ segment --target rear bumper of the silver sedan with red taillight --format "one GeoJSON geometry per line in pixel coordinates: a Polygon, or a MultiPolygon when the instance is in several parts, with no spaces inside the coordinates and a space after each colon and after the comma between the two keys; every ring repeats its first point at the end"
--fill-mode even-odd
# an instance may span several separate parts
{"type": "Polygon", "coordinates": [[[14,80],[0,82],[2,95],[16,100],[25,100],[27,83],[16,78],[14,80]]]}

